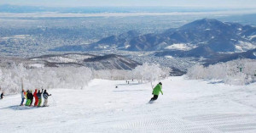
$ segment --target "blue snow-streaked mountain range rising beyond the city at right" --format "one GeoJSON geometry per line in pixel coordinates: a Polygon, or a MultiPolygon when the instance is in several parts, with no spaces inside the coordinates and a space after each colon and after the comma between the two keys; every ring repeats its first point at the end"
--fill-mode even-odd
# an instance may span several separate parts
{"type": "Polygon", "coordinates": [[[250,25],[198,19],[162,33],[142,35],[131,30],[119,36],[108,36],[89,45],[63,46],[52,51],[173,51],[207,48],[216,53],[241,53],[256,48],[256,28],[250,25]]]}

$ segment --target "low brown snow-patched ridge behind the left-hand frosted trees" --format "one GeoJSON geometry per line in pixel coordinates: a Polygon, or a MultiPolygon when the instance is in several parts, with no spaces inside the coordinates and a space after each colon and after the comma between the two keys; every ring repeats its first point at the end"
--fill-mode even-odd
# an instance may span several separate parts
{"type": "Polygon", "coordinates": [[[33,58],[0,58],[0,66],[11,67],[13,64],[26,64],[28,68],[41,67],[89,67],[91,69],[134,69],[141,65],[121,55],[93,55],[88,53],[48,54],[33,58]]]}

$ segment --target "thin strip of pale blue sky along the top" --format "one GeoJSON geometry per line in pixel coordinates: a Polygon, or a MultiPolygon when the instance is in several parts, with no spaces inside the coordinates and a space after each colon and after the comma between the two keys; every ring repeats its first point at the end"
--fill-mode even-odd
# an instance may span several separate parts
{"type": "Polygon", "coordinates": [[[0,0],[0,4],[46,7],[178,6],[205,8],[256,8],[256,0],[0,0]]]}

